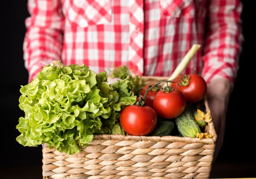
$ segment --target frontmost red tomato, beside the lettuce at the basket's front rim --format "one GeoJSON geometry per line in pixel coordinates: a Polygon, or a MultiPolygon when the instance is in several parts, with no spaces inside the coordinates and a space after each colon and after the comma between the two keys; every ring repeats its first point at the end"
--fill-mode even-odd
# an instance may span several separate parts
{"type": "Polygon", "coordinates": [[[157,114],[148,106],[128,105],[120,114],[120,124],[130,135],[146,136],[157,124],[157,114]]]}

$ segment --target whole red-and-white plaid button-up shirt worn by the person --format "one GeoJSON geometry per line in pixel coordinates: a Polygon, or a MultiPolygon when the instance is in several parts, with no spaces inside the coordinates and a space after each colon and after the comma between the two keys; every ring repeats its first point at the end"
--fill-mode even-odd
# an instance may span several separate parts
{"type": "Polygon", "coordinates": [[[170,76],[193,44],[203,48],[184,73],[235,80],[239,0],[29,0],[28,9],[29,81],[53,60],[97,73],[124,64],[135,74],[170,76]]]}

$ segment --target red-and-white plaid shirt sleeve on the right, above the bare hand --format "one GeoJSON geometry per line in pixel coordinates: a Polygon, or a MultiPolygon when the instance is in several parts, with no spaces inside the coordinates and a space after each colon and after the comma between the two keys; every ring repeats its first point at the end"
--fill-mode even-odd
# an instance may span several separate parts
{"type": "Polygon", "coordinates": [[[242,4],[239,0],[210,0],[208,8],[202,76],[207,83],[218,78],[234,83],[243,42],[242,4]]]}

